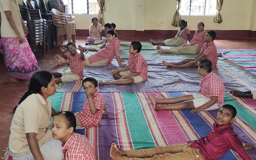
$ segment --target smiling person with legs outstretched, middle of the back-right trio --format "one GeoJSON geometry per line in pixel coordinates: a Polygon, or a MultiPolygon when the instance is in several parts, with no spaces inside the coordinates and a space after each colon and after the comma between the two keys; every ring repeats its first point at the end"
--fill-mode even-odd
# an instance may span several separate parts
{"type": "Polygon", "coordinates": [[[156,49],[159,53],[200,53],[201,49],[203,48],[204,36],[207,32],[204,30],[204,23],[199,22],[197,23],[197,30],[193,36],[193,39],[190,43],[186,43],[181,47],[176,47],[172,49],[161,49],[161,46],[158,45],[156,49]]]}

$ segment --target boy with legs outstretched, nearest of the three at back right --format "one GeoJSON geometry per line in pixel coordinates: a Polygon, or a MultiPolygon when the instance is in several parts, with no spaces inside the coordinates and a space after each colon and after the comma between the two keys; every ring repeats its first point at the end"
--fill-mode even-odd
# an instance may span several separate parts
{"type": "Polygon", "coordinates": [[[204,45],[200,53],[194,59],[184,59],[181,62],[177,63],[167,63],[163,61],[163,64],[167,68],[189,68],[192,66],[198,67],[198,61],[201,59],[209,59],[213,64],[213,69],[218,69],[217,61],[218,61],[218,53],[217,48],[214,44],[214,38],[216,37],[216,33],[214,31],[208,31],[204,37],[204,45]]]}

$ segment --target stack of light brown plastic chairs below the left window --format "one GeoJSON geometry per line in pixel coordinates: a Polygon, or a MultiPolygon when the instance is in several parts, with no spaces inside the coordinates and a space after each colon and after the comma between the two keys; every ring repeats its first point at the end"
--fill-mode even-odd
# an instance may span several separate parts
{"type": "Polygon", "coordinates": [[[56,45],[62,46],[64,35],[67,35],[68,42],[75,43],[75,17],[52,9],[53,24],[57,27],[56,45]]]}

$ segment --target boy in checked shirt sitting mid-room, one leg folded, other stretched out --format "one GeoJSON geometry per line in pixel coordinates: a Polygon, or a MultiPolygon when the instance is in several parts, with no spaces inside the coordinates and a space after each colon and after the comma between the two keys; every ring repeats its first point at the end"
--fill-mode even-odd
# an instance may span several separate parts
{"type": "Polygon", "coordinates": [[[141,43],[133,41],[129,47],[128,66],[123,69],[112,70],[111,74],[117,80],[99,82],[99,85],[130,85],[148,79],[148,65],[144,57],[139,53],[141,43]]]}

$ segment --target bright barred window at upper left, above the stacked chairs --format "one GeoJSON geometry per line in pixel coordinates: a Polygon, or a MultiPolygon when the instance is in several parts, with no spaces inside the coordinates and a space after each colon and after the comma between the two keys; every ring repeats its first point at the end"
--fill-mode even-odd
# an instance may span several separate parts
{"type": "Polygon", "coordinates": [[[63,0],[66,5],[66,13],[69,14],[98,14],[97,0],[63,0]]]}

